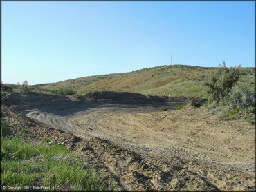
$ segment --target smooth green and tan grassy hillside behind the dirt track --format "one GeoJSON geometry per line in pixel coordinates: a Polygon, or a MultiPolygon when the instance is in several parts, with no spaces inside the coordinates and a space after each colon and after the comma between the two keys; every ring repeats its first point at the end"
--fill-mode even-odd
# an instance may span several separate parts
{"type": "MultiPolygon", "coordinates": [[[[41,85],[54,90],[72,88],[77,94],[91,91],[113,90],[142,93],[145,95],[172,95],[205,97],[203,80],[214,68],[199,66],[158,66],[144,68],[130,73],[96,75],[41,85]]],[[[237,86],[255,86],[255,68],[241,68],[241,79],[237,86]]]]}

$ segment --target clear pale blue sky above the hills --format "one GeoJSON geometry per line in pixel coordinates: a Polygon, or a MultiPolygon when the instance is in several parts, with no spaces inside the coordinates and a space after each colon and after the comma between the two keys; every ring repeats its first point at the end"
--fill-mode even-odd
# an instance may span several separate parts
{"type": "Polygon", "coordinates": [[[255,2],[3,2],[2,81],[171,64],[255,66],[255,2]]]}

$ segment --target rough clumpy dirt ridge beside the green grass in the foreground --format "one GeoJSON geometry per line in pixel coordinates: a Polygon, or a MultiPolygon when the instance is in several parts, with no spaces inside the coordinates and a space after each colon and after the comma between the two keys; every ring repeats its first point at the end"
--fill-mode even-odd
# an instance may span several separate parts
{"type": "MultiPolygon", "coordinates": [[[[195,180],[196,184],[201,184],[203,189],[217,189],[207,180],[202,180],[196,173],[185,171],[182,166],[174,166],[170,163],[165,163],[165,166],[161,163],[162,166],[160,166],[154,162],[154,158],[144,157],[116,146],[111,144],[109,140],[94,138],[89,140],[89,146],[98,153],[101,162],[104,162],[111,173],[120,178],[120,186],[129,191],[166,190],[177,189],[177,187],[186,189],[186,183],[188,184],[190,180],[195,180]],[[181,182],[184,180],[181,173],[184,177],[188,177],[185,183],[181,182]]],[[[85,150],[90,149],[86,147],[85,150]]]]}

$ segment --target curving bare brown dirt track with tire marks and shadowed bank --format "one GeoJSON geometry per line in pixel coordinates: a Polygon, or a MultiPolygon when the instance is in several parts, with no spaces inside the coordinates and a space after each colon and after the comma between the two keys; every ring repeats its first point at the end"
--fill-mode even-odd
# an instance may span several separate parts
{"type": "MultiPolygon", "coordinates": [[[[59,130],[58,138],[75,135],[73,148],[115,189],[254,191],[255,127],[220,120],[206,108],[174,110],[185,103],[129,93],[12,93],[4,106],[6,114],[19,112],[12,121],[26,115],[26,121],[59,130]]],[[[54,135],[40,126],[35,135],[54,135]]]]}

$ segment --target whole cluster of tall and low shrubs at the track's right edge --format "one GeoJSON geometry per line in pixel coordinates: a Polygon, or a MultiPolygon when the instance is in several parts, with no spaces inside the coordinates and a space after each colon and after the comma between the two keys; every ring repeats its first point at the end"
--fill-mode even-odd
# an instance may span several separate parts
{"type": "Polygon", "coordinates": [[[225,62],[205,80],[208,88],[208,106],[223,119],[244,117],[255,124],[255,91],[248,87],[237,88],[241,77],[239,66],[227,68],[225,62]]]}

